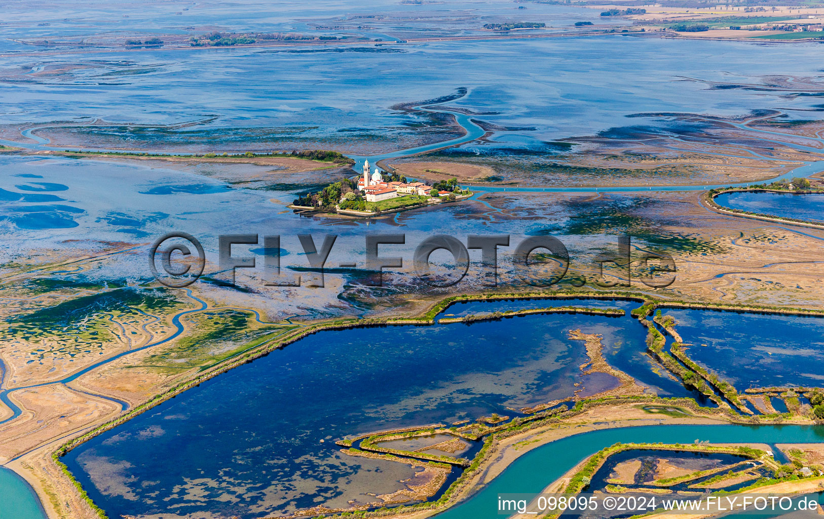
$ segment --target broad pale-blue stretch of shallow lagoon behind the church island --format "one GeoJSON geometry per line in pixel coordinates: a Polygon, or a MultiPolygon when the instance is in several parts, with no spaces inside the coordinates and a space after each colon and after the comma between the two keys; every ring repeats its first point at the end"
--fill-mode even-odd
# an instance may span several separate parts
{"type": "MultiPolygon", "coordinates": [[[[578,9],[581,16],[590,11],[578,9]]],[[[818,45],[794,44],[793,49],[798,59],[787,60],[781,44],[621,35],[345,49],[97,54],[91,49],[50,56],[59,72],[28,74],[15,82],[15,102],[0,107],[0,124],[100,118],[150,125],[63,130],[68,140],[87,147],[125,142],[155,150],[324,147],[369,154],[445,140],[423,115],[391,107],[466,87],[467,95],[449,105],[482,113],[478,118],[490,124],[519,128],[496,131],[493,140],[503,147],[545,149],[546,141],[559,138],[610,129],[619,129],[613,136],[631,135],[648,126],[666,135],[683,124],[629,115],[739,117],[764,105],[815,110],[814,96],[746,88],[761,84],[765,76],[817,76],[818,45]],[[522,66],[524,57],[528,68],[522,66]],[[593,77],[600,80],[592,82],[593,77]],[[732,87],[715,88],[714,83],[732,87]],[[162,127],[195,120],[203,123],[162,127]]],[[[23,53],[6,59],[9,68],[21,71],[42,64],[41,58],[23,53]]],[[[0,92],[11,95],[7,88],[0,86],[0,92]]],[[[803,113],[788,111],[791,119],[803,113]]],[[[34,132],[39,134],[44,132],[34,132]]]]}

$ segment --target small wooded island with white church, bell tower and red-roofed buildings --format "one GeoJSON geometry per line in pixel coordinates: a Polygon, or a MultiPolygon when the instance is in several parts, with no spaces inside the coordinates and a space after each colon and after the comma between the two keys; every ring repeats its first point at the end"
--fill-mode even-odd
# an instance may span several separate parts
{"type": "Polygon", "coordinates": [[[349,178],[338,180],[316,193],[299,196],[289,207],[370,217],[432,203],[454,202],[471,195],[471,191],[461,189],[455,178],[426,185],[424,182],[408,182],[403,175],[384,172],[377,167],[370,175],[367,160],[357,182],[349,178]]]}

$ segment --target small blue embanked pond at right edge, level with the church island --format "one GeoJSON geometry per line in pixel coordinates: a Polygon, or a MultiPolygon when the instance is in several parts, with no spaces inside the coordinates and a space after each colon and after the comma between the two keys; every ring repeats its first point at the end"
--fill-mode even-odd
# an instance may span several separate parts
{"type": "Polygon", "coordinates": [[[824,222],[824,194],[722,193],[715,201],[723,207],[777,217],[824,222]]]}

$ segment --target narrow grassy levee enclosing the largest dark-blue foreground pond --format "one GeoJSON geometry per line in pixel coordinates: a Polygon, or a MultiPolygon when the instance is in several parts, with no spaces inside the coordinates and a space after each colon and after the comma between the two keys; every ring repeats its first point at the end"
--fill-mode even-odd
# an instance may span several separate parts
{"type": "MultiPolygon", "coordinates": [[[[747,312],[761,312],[761,313],[768,313],[768,314],[784,314],[784,315],[803,315],[803,316],[824,316],[824,311],[818,310],[808,310],[803,308],[790,308],[790,307],[783,307],[783,306],[756,306],[756,305],[736,305],[736,304],[720,304],[720,303],[698,303],[698,302],[684,302],[684,301],[672,301],[672,300],[662,300],[658,297],[652,297],[648,294],[641,293],[641,292],[595,292],[595,291],[588,291],[588,290],[581,290],[581,291],[573,291],[573,290],[559,290],[555,292],[503,292],[503,293],[480,293],[480,294],[466,294],[466,295],[459,295],[459,296],[452,296],[446,297],[438,302],[433,303],[433,306],[429,308],[422,316],[418,317],[404,317],[404,318],[367,318],[367,319],[358,319],[358,318],[345,318],[345,319],[338,319],[338,320],[331,320],[326,322],[319,322],[314,323],[311,325],[302,326],[300,328],[296,328],[293,330],[288,330],[287,332],[279,335],[278,337],[274,337],[271,340],[265,341],[265,344],[260,344],[260,346],[256,348],[251,348],[250,350],[246,350],[244,353],[237,357],[233,357],[227,359],[220,364],[209,368],[205,372],[199,372],[196,376],[191,378],[188,381],[182,381],[177,386],[171,387],[170,389],[160,393],[158,395],[153,396],[143,404],[139,404],[138,406],[130,409],[127,413],[121,414],[119,417],[116,417],[109,422],[102,423],[98,427],[92,429],[88,433],[84,433],[81,436],[74,437],[69,439],[67,442],[64,442],[61,446],[59,446],[53,453],[52,458],[54,459],[55,464],[59,467],[60,470],[63,471],[63,474],[75,485],[80,497],[89,503],[91,510],[96,512],[98,517],[101,519],[105,519],[107,517],[105,515],[105,511],[103,511],[100,507],[98,507],[95,503],[91,501],[91,498],[88,497],[86,491],[82,488],[82,485],[75,479],[72,475],[71,471],[68,470],[68,467],[60,461],[60,457],[65,455],[68,451],[71,451],[73,448],[81,445],[83,442],[87,442],[92,437],[96,437],[106,431],[109,431],[112,428],[119,426],[122,423],[129,421],[129,419],[138,416],[146,412],[149,409],[154,408],[158,404],[162,404],[166,400],[171,399],[176,395],[180,395],[185,390],[188,390],[194,386],[199,386],[204,381],[213,378],[214,376],[218,376],[223,372],[227,372],[228,370],[239,367],[242,364],[247,362],[251,362],[255,358],[259,358],[266,353],[274,351],[274,349],[283,348],[288,344],[292,344],[293,342],[302,339],[310,334],[315,334],[324,330],[344,330],[349,328],[355,327],[363,327],[363,326],[374,326],[374,325],[433,325],[434,319],[438,314],[442,311],[446,310],[448,306],[452,305],[455,302],[461,301],[500,301],[506,299],[580,299],[580,298],[597,298],[597,299],[620,299],[620,300],[629,300],[642,303],[642,306],[639,308],[634,309],[631,311],[631,315],[637,317],[639,322],[646,326],[648,329],[648,348],[655,353],[655,357],[659,360],[667,359],[664,363],[664,366],[667,369],[670,369],[673,373],[681,376],[681,374],[685,375],[687,379],[690,380],[692,383],[695,380],[700,380],[701,382],[705,381],[697,375],[695,372],[687,369],[686,367],[681,366],[676,359],[672,358],[667,352],[662,351],[664,338],[663,335],[655,329],[655,326],[652,325],[650,321],[646,319],[657,307],[680,307],[680,308],[698,308],[698,309],[715,309],[715,310],[729,310],[729,311],[747,311],[747,312]],[[692,375],[687,375],[687,373],[691,373],[692,375]]],[[[583,310],[580,308],[576,308],[576,311],[583,310]]],[[[603,311],[603,309],[596,309],[598,311],[603,311]]],[[[612,309],[613,311],[616,309],[612,309]]],[[[687,380],[681,376],[681,379],[687,383],[687,380]]],[[[696,382],[699,383],[700,382],[696,382]]],[[[709,390],[709,388],[705,388],[712,396],[710,398],[719,399],[718,395],[715,395],[713,391],[709,390]]],[[[702,391],[704,392],[704,391],[702,391]]],[[[706,393],[705,393],[706,394],[706,393]]],[[[709,395],[708,395],[709,396],[709,395]]],[[[728,404],[723,400],[720,400],[720,404],[722,407],[726,407],[728,413],[724,417],[733,423],[751,423],[751,421],[745,421],[739,414],[735,413],[733,409],[729,408],[728,404]]],[[[431,502],[424,502],[418,503],[415,505],[409,506],[401,506],[392,508],[391,510],[377,510],[371,512],[365,512],[365,517],[383,517],[387,515],[395,515],[401,512],[410,512],[414,510],[435,510],[438,508],[446,507],[447,504],[452,504],[449,502],[449,499],[455,495],[457,492],[460,492],[461,489],[464,489],[471,478],[475,476],[475,471],[478,467],[484,463],[487,458],[491,455],[491,451],[494,451],[494,443],[497,442],[499,438],[508,437],[513,434],[521,433],[531,428],[541,427],[542,425],[547,425],[550,423],[558,423],[560,420],[564,418],[569,418],[575,416],[576,414],[580,414],[587,409],[592,409],[592,407],[597,407],[600,405],[611,405],[611,404],[627,404],[627,403],[634,403],[634,404],[670,404],[676,405],[683,408],[688,408],[694,411],[697,414],[706,414],[709,409],[701,408],[695,400],[689,398],[661,398],[654,395],[642,395],[642,396],[630,396],[630,397],[622,397],[622,396],[610,396],[610,397],[602,397],[597,399],[590,399],[590,400],[579,400],[576,402],[575,406],[569,410],[560,410],[560,409],[548,409],[548,410],[541,410],[536,412],[535,414],[531,414],[529,416],[522,416],[513,418],[512,420],[505,422],[505,423],[498,423],[495,424],[494,427],[490,427],[488,424],[477,423],[472,424],[471,426],[464,426],[460,428],[461,432],[466,435],[466,437],[471,437],[473,439],[483,437],[484,439],[484,446],[480,449],[479,453],[475,456],[475,459],[471,461],[466,470],[464,470],[463,474],[456,479],[456,481],[447,489],[436,501],[431,502]],[[469,433],[469,431],[477,431],[477,433],[469,433]]],[[[751,418],[756,419],[756,418],[751,418]]],[[[451,431],[451,430],[450,430],[451,431]]],[[[452,431],[451,431],[452,432],[452,431]]],[[[343,445],[346,442],[349,442],[347,447],[351,446],[351,442],[353,440],[343,441],[343,445]]]]}

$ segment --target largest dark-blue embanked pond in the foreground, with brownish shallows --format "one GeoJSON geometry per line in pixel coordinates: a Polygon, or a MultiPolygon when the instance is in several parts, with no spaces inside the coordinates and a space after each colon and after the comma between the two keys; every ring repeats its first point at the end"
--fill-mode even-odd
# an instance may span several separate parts
{"type": "MultiPolygon", "coordinates": [[[[336,440],[513,416],[583,389],[574,382],[592,392],[614,386],[611,376],[581,376],[583,341],[567,338],[578,328],[603,334],[609,352],[631,356],[644,348],[644,329],[629,316],[325,331],[186,391],[64,461],[110,516],[208,511],[251,518],[320,498],[327,506],[364,502],[363,493],[391,492],[412,472],[344,456],[336,440]]],[[[643,364],[634,372],[644,370],[663,380],[643,364]]]]}

